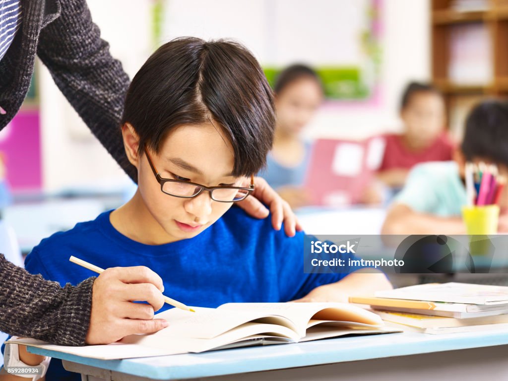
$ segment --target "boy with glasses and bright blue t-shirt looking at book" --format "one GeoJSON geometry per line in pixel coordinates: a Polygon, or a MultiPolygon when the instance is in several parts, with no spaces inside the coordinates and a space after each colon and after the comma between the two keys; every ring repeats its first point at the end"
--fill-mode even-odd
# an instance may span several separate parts
{"type": "MultiPolygon", "coordinates": [[[[144,265],[164,279],[166,295],[205,307],[347,301],[352,292],[390,288],[384,274],[358,268],[305,274],[303,233],[289,238],[232,207],[256,186],[252,174],[265,165],[274,125],[272,91],[244,47],[194,38],[163,45],[125,99],[122,134],[138,170],[135,196],[43,240],[26,269],[65,284],[92,275],[70,256],[103,268],[144,265]]],[[[145,307],[139,304],[142,317],[145,307]]],[[[62,377],[60,362],[52,363],[48,379],[62,377]]]]}

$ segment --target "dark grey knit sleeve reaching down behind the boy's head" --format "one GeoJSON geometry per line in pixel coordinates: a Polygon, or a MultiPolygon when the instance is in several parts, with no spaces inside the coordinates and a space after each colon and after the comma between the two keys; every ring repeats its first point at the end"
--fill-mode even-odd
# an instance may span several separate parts
{"type": "Polygon", "coordinates": [[[41,30],[37,54],[91,132],[136,181],[120,130],[129,77],[101,39],[85,0],[66,0],[60,7],[60,15],[41,30]]]}

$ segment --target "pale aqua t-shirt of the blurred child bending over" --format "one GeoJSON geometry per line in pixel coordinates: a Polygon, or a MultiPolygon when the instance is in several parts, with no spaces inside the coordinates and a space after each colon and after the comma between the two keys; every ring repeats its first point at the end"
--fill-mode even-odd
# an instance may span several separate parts
{"type": "Polygon", "coordinates": [[[395,203],[404,204],[420,213],[441,217],[461,215],[466,205],[466,188],[455,162],[418,164],[411,169],[406,184],[395,197],[395,203]]]}

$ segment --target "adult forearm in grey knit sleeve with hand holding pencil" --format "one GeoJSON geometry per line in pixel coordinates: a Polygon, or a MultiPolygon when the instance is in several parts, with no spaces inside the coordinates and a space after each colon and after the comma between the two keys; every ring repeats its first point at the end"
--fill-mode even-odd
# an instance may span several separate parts
{"type": "Polygon", "coordinates": [[[60,345],[110,343],[156,332],[167,326],[152,320],[164,304],[162,289],[162,279],[142,266],[107,269],[98,278],[61,288],[0,255],[0,330],[60,345]]]}

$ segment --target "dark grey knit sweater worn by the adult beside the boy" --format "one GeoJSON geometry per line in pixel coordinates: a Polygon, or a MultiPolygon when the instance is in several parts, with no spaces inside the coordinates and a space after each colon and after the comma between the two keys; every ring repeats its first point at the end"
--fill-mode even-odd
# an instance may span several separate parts
{"type": "MultiPolygon", "coordinates": [[[[0,60],[0,130],[23,102],[37,54],[93,134],[133,179],[119,120],[129,78],[109,53],[85,0],[22,0],[21,29],[0,60]]],[[[0,331],[83,345],[93,279],[77,287],[30,275],[0,255],[0,331]]]]}

